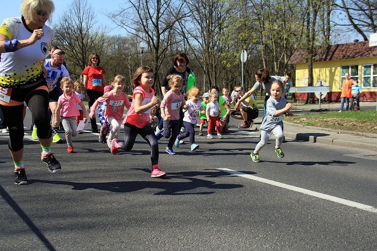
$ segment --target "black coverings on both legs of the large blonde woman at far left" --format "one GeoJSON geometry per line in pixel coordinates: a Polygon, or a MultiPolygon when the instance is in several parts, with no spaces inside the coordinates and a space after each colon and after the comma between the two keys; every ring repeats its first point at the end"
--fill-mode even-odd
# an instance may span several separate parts
{"type": "MultiPolygon", "coordinates": [[[[40,139],[51,138],[51,126],[48,116],[48,92],[35,90],[25,98],[26,104],[32,112],[36,133],[40,139]]],[[[24,148],[24,105],[5,106],[0,105],[4,121],[9,129],[8,148],[12,152],[24,148]]]]}

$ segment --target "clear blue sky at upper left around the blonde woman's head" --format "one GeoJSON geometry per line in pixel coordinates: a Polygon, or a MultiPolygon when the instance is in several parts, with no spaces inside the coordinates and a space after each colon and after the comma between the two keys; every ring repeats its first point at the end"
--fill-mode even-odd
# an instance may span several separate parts
{"type": "MultiPolygon", "coordinates": [[[[52,23],[56,23],[59,20],[59,16],[62,16],[67,7],[71,4],[72,0],[62,1],[54,0],[55,12],[53,14],[52,23]]],[[[93,8],[98,12],[98,24],[103,24],[109,27],[110,29],[116,28],[116,26],[103,14],[103,12],[113,11],[119,9],[119,4],[122,3],[120,0],[88,0],[92,4],[93,8]]],[[[5,18],[9,17],[19,17],[20,13],[21,0],[11,0],[6,1],[6,4],[3,4],[3,10],[0,12],[0,22],[5,18]]],[[[51,24],[48,24],[51,25],[51,24]]],[[[126,35],[126,32],[120,28],[115,29],[110,32],[111,34],[123,34],[126,35]]]]}

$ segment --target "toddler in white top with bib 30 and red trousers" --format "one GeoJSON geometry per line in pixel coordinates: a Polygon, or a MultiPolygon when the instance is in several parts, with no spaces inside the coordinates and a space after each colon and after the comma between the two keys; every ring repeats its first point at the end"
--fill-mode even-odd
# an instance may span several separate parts
{"type": "Polygon", "coordinates": [[[207,104],[207,107],[206,107],[206,116],[207,116],[207,122],[208,122],[207,138],[213,139],[212,127],[215,125],[216,131],[217,131],[217,137],[221,139],[224,136],[221,135],[221,126],[220,126],[220,120],[219,120],[220,109],[219,109],[219,103],[217,102],[218,95],[215,93],[210,93],[209,99],[211,101],[207,104]]]}

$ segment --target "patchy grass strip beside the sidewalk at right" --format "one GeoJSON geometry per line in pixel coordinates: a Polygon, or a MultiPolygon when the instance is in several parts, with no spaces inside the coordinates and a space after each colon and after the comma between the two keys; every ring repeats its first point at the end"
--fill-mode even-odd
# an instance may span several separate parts
{"type": "Polygon", "coordinates": [[[377,134],[377,111],[307,113],[283,120],[303,126],[377,134]]]}

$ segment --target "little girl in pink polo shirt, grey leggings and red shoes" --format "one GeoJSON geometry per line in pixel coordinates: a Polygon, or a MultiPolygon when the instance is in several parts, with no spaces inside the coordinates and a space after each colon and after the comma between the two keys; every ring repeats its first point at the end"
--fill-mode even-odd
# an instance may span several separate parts
{"type": "Polygon", "coordinates": [[[66,140],[68,144],[67,152],[73,153],[72,136],[74,137],[77,135],[76,116],[80,115],[77,104],[82,108],[84,123],[86,123],[88,119],[86,117],[84,104],[80,97],[73,92],[73,81],[64,77],[60,81],[60,88],[63,90],[63,94],[58,99],[53,126],[59,126],[59,120],[62,120],[64,130],[66,131],[66,140]]]}

